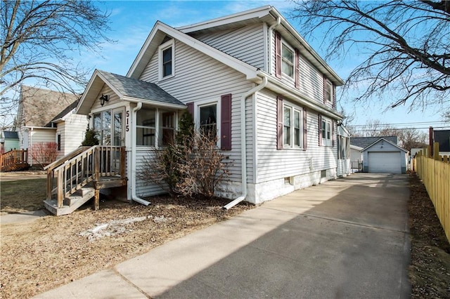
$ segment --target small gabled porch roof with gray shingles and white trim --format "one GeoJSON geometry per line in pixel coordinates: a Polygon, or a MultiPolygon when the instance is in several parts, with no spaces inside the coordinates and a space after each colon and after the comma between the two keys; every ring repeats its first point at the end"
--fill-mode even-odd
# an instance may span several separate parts
{"type": "Polygon", "coordinates": [[[88,114],[93,101],[98,98],[98,94],[101,92],[104,84],[108,85],[122,100],[147,102],[167,107],[186,107],[183,102],[177,100],[154,83],[96,69],[86,87],[86,92],[79,101],[75,113],[88,114]]]}

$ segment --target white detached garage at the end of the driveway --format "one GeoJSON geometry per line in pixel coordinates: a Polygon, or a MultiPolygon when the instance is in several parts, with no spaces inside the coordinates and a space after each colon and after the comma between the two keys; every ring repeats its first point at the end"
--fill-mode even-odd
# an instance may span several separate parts
{"type": "Polygon", "coordinates": [[[408,151],[380,138],[361,150],[363,171],[368,173],[406,173],[408,151]]]}

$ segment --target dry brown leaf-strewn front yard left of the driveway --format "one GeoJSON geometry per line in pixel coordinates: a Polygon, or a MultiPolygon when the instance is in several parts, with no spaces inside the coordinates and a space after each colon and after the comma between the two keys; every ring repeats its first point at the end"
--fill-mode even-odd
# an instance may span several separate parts
{"type": "Polygon", "coordinates": [[[29,298],[252,208],[241,203],[224,212],[228,201],[220,199],[150,201],[106,201],[98,211],[86,206],[70,215],[1,225],[0,298],[29,298]]]}

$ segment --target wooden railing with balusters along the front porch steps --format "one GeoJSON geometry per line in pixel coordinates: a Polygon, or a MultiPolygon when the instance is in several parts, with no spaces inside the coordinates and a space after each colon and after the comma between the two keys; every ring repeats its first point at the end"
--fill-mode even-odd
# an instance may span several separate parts
{"type": "Polygon", "coordinates": [[[112,185],[101,183],[102,178],[119,178],[122,182],[127,180],[124,147],[79,147],[44,169],[47,171],[46,200],[51,201],[53,196],[56,197],[57,208],[62,208],[65,198],[91,181],[94,181],[96,189],[94,206],[98,208],[98,190],[112,185]]]}

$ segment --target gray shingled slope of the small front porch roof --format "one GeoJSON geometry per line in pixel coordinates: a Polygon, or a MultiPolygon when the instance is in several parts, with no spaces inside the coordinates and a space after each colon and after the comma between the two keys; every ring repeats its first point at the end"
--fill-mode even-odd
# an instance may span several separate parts
{"type": "Polygon", "coordinates": [[[101,70],[98,70],[98,72],[101,73],[103,77],[105,77],[105,79],[107,79],[110,84],[117,88],[117,91],[122,93],[124,96],[155,102],[164,102],[167,104],[184,105],[183,102],[172,97],[172,95],[169,95],[169,93],[154,83],[132,79],[101,70]]]}

